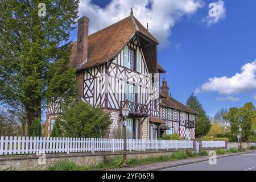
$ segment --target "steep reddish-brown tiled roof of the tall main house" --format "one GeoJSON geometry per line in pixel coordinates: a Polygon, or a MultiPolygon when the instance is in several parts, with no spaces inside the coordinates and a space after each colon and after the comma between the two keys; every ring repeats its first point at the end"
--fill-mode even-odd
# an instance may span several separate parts
{"type": "MultiPolygon", "coordinates": [[[[79,69],[106,63],[113,59],[113,57],[117,56],[123,47],[125,47],[136,32],[143,34],[156,44],[159,44],[154,36],[152,36],[133,15],[130,15],[109,27],[89,35],[88,61],[79,69]]],[[[76,65],[76,54],[77,42],[74,42],[70,57],[70,64],[72,66],[76,65]]]]}

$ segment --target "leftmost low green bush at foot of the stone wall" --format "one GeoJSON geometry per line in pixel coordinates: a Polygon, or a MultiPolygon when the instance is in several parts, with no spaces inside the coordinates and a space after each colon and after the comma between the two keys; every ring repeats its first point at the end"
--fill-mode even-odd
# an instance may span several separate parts
{"type": "Polygon", "coordinates": [[[53,166],[50,166],[49,171],[77,171],[79,167],[76,165],[75,162],[64,159],[56,162],[53,166]]]}

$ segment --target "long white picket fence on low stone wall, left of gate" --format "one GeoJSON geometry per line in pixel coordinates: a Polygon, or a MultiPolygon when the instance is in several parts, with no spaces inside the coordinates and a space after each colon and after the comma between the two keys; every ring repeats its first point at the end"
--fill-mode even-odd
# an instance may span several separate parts
{"type": "MultiPolygon", "coordinates": [[[[193,148],[192,140],[127,139],[128,151],[193,148]]],[[[123,139],[1,137],[0,155],[122,151],[123,139]]]]}

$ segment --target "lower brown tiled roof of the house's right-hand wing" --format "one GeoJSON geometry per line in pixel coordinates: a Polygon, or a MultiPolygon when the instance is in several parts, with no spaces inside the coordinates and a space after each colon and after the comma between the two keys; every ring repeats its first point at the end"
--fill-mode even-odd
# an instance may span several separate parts
{"type": "Polygon", "coordinates": [[[179,101],[175,100],[171,96],[162,97],[162,102],[160,102],[160,105],[171,107],[173,109],[183,110],[183,111],[186,111],[188,113],[198,114],[197,111],[195,111],[193,109],[190,109],[188,106],[185,106],[184,104],[181,104],[179,101]]]}

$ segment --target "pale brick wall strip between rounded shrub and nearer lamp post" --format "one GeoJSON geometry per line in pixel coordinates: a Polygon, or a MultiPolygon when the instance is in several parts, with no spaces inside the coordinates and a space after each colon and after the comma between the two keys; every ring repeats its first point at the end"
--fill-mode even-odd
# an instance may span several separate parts
{"type": "Polygon", "coordinates": [[[112,124],[109,127],[109,138],[118,138],[119,128],[119,112],[110,111],[112,124]]]}

